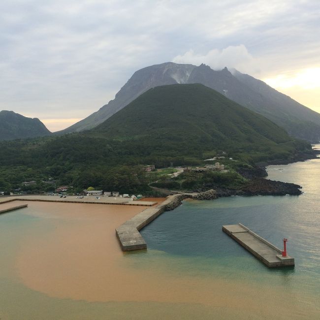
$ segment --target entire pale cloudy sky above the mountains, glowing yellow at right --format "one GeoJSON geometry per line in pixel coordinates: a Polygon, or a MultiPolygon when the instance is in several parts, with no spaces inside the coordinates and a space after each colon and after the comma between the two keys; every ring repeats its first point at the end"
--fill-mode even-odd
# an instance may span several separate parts
{"type": "Polygon", "coordinates": [[[320,112],[320,1],[0,0],[0,110],[51,131],[169,61],[236,68],[320,112]]]}

